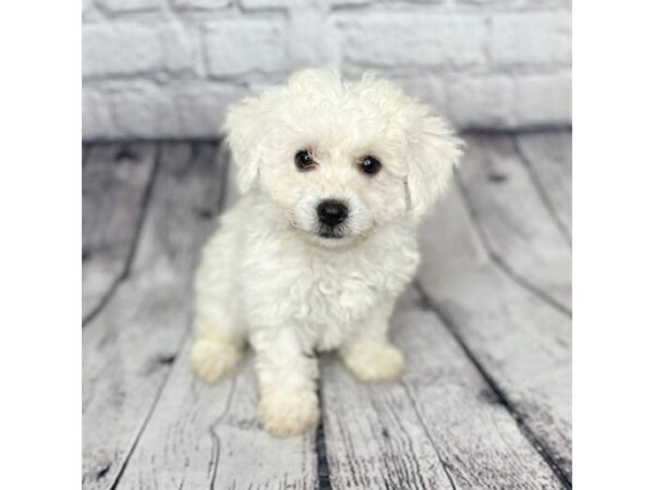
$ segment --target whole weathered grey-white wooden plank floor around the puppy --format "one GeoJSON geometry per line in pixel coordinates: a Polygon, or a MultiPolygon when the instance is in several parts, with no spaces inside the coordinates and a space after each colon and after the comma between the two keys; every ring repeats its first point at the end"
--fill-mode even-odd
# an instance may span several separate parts
{"type": "Polygon", "coordinates": [[[251,359],[189,369],[192,273],[234,196],[219,144],[86,143],[83,488],[571,488],[571,135],[465,140],[392,319],[402,382],[327,355],[320,427],[287,440],[251,359]]]}

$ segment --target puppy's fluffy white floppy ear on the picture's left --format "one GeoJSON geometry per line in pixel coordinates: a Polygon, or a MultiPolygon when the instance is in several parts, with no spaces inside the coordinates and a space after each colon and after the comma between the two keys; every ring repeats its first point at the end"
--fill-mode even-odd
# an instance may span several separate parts
{"type": "Polygon", "coordinates": [[[247,97],[233,103],[228,112],[223,131],[237,164],[237,182],[242,193],[250,191],[262,163],[263,101],[258,97],[247,97]]]}

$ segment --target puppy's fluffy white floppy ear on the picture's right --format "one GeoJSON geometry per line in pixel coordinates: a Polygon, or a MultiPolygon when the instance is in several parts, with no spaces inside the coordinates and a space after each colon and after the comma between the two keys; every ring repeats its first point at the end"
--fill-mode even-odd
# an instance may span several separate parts
{"type": "Polygon", "coordinates": [[[410,142],[407,188],[411,215],[424,215],[445,192],[462,155],[462,145],[445,121],[423,118],[422,128],[410,142]]]}

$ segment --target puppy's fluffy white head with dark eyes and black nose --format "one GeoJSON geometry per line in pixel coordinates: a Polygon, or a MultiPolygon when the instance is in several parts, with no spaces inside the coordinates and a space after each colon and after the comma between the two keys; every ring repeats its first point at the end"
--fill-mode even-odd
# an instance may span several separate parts
{"type": "Polygon", "coordinates": [[[421,217],[461,151],[448,125],[387,81],[305,70],[230,108],[239,187],[259,188],[322,245],[421,217]]]}

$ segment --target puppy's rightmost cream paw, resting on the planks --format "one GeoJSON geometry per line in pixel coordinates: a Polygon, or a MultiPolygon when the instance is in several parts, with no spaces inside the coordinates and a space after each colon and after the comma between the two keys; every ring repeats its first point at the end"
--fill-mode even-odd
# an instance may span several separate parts
{"type": "Polygon", "coordinates": [[[404,355],[390,344],[358,345],[341,357],[359,381],[398,381],[404,372],[404,355]]]}

